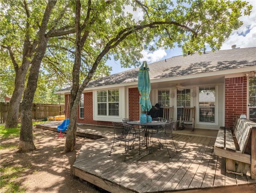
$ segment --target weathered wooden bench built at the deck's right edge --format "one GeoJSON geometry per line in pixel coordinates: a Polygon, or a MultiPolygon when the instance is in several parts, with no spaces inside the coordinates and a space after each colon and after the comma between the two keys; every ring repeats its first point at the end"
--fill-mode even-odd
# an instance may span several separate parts
{"type": "Polygon", "coordinates": [[[256,123],[237,118],[233,129],[220,127],[214,154],[225,157],[226,172],[243,175],[250,167],[256,179],[256,123]]]}

